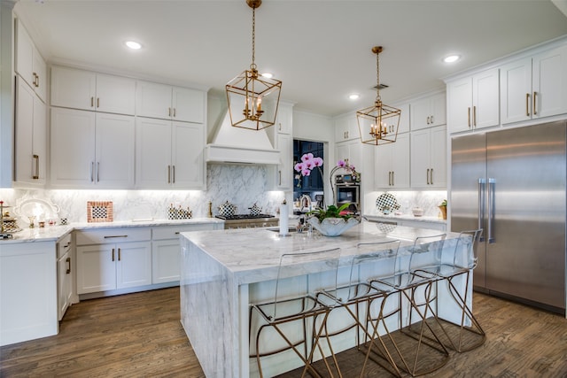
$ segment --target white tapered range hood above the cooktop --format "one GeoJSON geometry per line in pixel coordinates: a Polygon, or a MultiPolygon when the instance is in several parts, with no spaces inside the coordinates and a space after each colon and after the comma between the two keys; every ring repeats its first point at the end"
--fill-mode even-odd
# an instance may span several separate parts
{"type": "Polygon", "coordinates": [[[266,130],[232,127],[226,112],[213,143],[206,145],[205,158],[207,163],[278,165],[280,151],[274,149],[266,130]]]}

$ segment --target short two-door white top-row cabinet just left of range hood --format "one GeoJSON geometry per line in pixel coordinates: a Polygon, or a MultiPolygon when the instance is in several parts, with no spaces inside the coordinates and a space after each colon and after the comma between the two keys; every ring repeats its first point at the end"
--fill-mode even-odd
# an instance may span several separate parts
{"type": "Polygon", "coordinates": [[[206,92],[137,81],[136,115],[162,120],[205,122],[206,92]]]}

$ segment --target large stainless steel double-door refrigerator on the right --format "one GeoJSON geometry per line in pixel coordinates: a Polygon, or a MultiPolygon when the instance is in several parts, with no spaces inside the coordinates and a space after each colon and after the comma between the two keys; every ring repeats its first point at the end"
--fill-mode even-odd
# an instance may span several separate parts
{"type": "Polygon", "coordinates": [[[452,138],[451,230],[483,228],[476,289],[565,313],[567,121],[452,138]]]}

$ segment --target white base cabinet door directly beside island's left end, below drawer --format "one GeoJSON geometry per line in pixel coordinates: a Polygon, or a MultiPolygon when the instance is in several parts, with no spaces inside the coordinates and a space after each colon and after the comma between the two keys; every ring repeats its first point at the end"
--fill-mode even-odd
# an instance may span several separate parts
{"type": "Polygon", "coordinates": [[[181,275],[179,239],[151,243],[151,283],[179,281],[181,275]]]}

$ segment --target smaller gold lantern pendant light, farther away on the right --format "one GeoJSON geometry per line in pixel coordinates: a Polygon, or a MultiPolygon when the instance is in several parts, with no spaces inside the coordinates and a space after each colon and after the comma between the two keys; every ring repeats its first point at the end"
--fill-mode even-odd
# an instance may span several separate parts
{"type": "Polygon", "coordinates": [[[376,54],[377,95],[374,106],[356,112],[358,128],[361,133],[361,142],[373,145],[394,143],[398,137],[400,126],[400,109],[382,103],[380,98],[380,58],[384,50],[382,46],[375,46],[372,52],[376,54]]]}

